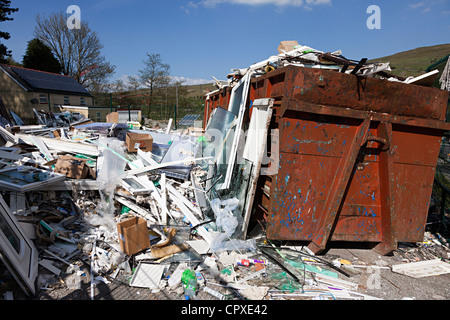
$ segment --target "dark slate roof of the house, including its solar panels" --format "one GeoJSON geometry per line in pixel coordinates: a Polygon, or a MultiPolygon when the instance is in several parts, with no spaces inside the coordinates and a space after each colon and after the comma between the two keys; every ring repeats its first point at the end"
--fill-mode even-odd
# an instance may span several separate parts
{"type": "Polygon", "coordinates": [[[69,76],[6,64],[0,64],[0,68],[28,91],[91,96],[89,91],[69,76]]]}

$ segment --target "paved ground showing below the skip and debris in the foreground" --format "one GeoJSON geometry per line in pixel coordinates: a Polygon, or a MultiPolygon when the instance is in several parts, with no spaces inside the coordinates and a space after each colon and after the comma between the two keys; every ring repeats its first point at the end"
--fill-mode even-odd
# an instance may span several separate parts
{"type": "MultiPolygon", "coordinates": [[[[357,283],[358,292],[372,297],[384,300],[450,300],[450,274],[432,276],[421,279],[414,279],[409,276],[392,272],[389,267],[401,262],[402,256],[394,254],[391,256],[380,256],[370,249],[354,248],[332,248],[323,258],[333,260],[342,258],[348,260],[352,265],[372,265],[383,268],[368,270],[367,268],[344,269],[350,277],[340,275],[341,279],[357,283]],[[387,268],[386,268],[387,267],[387,268]]],[[[247,267],[242,267],[240,271],[249,272],[247,267]]],[[[238,270],[239,271],[239,270],[238,270]]],[[[272,270],[273,271],[273,270],[272,270]]],[[[40,270],[45,273],[45,270],[40,270]]],[[[80,289],[69,289],[67,287],[68,278],[61,276],[61,280],[55,278],[55,281],[47,289],[40,289],[35,297],[26,297],[14,281],[14,279],[5,271],[4,267],[0,269],[0,299],[3,298],[6,291],[12,291],[14,300],[91,300],[91,286],[89,272],[83,276],[83,283],[80,289]]],[[[255,285],[268,285],[268,278],[255,279],[249,282],[255,285]]],[[[212,286],[222,293],[230,293],[230,289],[220,286],[212,286]],[[227,290],[225,292],[224,290],[227,290]]],[[[267,295],[265,299],[270,299],[267,295]]],[[[200,292],[199,300],[216,300],[215,297],[205,292],[200,292]]],[[[235,296],[236,300],[239,299],[235,296]]],[[[272,299],[305,299],[299,297],[285,296],[272,297],[272,299]]],[[[145,288],[135,288],[129,286],[126,282],[113,281],[109,284],[98,283],[94,287],[94,300],[184,300],[182,292],[167,289],[159,292],[152,292],[145,288]]]]}

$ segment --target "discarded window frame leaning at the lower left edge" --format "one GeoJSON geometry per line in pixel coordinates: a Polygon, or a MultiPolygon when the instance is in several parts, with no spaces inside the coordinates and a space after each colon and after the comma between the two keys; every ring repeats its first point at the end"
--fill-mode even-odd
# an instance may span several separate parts
{"type": "Polygon", "coordinates": [[[0,259],[25,294],[34,295],[36,293],[35,281],[38,276],[38,252],[33,242],[26,237],[1,195],[0,259]],[[9,238],[14,236],[18,240],[18,246],[14,246],[8,239],[5,230],[10,233],[9,238]]]}

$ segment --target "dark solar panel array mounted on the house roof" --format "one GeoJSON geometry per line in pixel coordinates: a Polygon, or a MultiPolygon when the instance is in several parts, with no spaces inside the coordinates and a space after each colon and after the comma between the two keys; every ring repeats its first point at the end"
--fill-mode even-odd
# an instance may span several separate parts
{"type": "Polygon", "coordinates": [[[81,84],[70,77],[23,68],[11,67],[11,69],[35,89],[89,93],[81,84]]]}

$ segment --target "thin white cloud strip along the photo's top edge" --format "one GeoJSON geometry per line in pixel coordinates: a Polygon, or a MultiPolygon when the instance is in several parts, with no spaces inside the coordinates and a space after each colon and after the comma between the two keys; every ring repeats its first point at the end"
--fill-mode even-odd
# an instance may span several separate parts
{"type": "Polygon", "coordinates": [[[215,7],[221,3],[231,3],[247,6],[275,5],[277,7],[301,7],[311,8],[316,5],[331,5],[331,0],[202,0],[200,2],[207,7],[215,7]]]}

